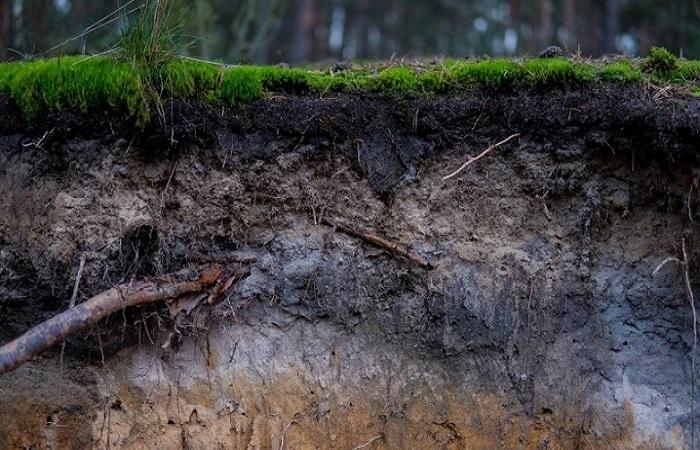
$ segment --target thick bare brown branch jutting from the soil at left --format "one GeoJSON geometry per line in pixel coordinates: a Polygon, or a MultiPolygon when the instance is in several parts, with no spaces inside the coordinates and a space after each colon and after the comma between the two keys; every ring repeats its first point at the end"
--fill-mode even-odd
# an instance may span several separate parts
{"type": "Polygon", "coordinates": [[[194,281],[177,282],[172,281],[173,276],[163,277],[154,281],[117,286],[98,294],[40,323],[22,336],[0,347],[0,375],[15,370],[67,336],[84,330],[128,306],[145,305],[201,292],[206,287],[214,285],[221,272],[221,267],[214,265],[194,281]]]}

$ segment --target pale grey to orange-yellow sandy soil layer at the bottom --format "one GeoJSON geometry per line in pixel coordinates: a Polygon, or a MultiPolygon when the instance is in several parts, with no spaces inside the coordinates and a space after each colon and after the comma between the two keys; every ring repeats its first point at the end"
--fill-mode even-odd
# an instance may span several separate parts
{"type": "Polygon", "coordinates": [[[282,327],[217,326],[209,352],[191,343],[165,362],[148,345],[127,350],[81,381],[34,363],[0,387],[3,448],[685,447],[680,429],[635,430],[630,401],[593,411],[581,398],[527,418],[507,393],[470,389],[400,349],[327,325],[282,327]]]}

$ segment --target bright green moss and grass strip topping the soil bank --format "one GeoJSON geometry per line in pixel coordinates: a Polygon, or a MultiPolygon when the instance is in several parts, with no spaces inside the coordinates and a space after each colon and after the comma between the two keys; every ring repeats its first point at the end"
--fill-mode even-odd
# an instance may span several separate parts
{"type": "Polygon", "coordinates": [[[514,90],[629,84],[645,80],[683,83],[691,90],[700,84],[700,62],[680,60],[659,50],[643,60],[610,63],[572,62],[563,58],[448,60],[420,70],[393,65],[335,74],[276,66],[224,68],[178,58],[170,50],[139,54],[142,55],[139,58],[143,57],[141,62],[120,55],[117,59],[73,56],[0,64],[0,93],[10,95],[30,120],[64,107],[83,112],[108,108],[144,125],[161,97],[240,105],[274,92],[312,95],[367,92],[395,96],[459,93],[475,88],[514,90]],[[154,60],[157,62],[147,62],[154,60]]]}

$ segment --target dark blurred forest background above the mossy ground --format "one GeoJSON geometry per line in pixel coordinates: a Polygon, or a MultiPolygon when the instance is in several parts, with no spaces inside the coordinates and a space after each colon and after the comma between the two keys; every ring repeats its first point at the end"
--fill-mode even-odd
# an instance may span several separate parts
{"type": "MultiPolygon", "coordinates": [[[[109,49],[142,1],[0,0],[0,59],[109,49]]],[[[186,53],[227,63],[534,55],[551,44],[700,58],[700,0],[178,1],[186,53]]]]}

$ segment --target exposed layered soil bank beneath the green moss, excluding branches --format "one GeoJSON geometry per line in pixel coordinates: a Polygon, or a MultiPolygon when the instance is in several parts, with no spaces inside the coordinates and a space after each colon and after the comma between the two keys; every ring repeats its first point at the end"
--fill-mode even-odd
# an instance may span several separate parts
{"type": "Polygon", "coordinates": [[[0,447],[690,448],[691,308],[652,272],[698,254],[700,100],[661,94],[173,102],[143,133],[0,101],[3,342],[66,308],[81,255],[79,299],[257,255],[177,351],[135,309],[0,378],[0,447]]]}

